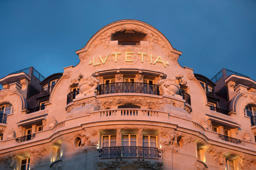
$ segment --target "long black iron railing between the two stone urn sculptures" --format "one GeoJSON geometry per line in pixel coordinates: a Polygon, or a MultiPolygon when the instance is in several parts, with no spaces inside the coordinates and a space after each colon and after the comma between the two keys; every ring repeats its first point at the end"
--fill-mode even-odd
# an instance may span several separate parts
{"type": "Polygon", "coordinates": [[[159,88],[156,84],[138,82],[118,82],[100,84],[99,95],[109,93],[145,93],[159,95],[159,88]]]}

